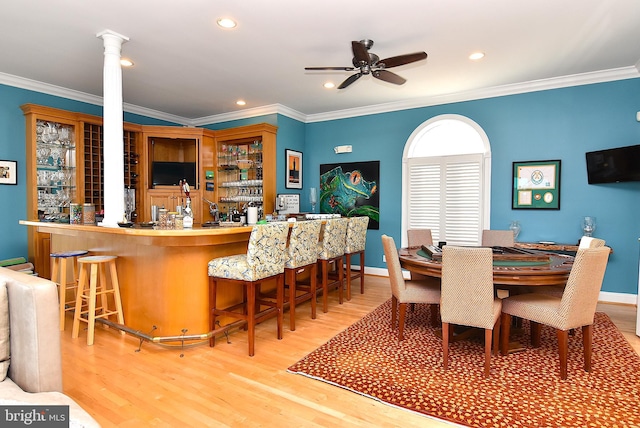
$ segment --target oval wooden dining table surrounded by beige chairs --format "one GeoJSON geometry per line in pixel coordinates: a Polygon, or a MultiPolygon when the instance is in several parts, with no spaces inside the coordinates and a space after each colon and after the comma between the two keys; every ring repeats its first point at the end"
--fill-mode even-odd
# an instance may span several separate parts
{"type": "MultiPolygon", "coordinates": [[[[398,250],[400,266],[410,272],[440,278],[442,262],[432,260],[421,253],[423,253],[421,247],[400,248],[398,250]]],[[[573,257],[565,254],[544,254],[549,256],[547,263],[495,261],[493,283],[497,286],[566,285],[573,266],[573,257]]]]}

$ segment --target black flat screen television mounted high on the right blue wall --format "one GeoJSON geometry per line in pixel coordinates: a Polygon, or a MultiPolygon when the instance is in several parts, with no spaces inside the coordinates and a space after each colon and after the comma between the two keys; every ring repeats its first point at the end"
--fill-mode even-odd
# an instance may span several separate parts
{"type": "Polygon", "coordinates": [[[640,145],[587,152],[589,184],[640,181],[640,145]]]}

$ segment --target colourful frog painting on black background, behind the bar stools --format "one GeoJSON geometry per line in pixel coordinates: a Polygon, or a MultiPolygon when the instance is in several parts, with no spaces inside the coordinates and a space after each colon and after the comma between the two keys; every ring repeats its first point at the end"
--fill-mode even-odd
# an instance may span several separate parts
{"type": "Polygon", "coordinates": [[[320,212],[367,216],[380,229],[380,161],[320,165],[320,212]]]}

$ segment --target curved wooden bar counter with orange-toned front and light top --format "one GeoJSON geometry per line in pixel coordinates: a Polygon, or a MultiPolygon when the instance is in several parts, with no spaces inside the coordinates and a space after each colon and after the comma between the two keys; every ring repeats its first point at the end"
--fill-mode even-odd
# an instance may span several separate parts
{"type": "MultiPolygon", "coordinates": [[[[51,252],[89,250],[118,256],[116,265],[127,327],[153,335],[209,331],[209,260],[247,251],[250,226],[185,230],[109,228],[20,221],[51,234],[51,252]]],[[[233,302],[241,290],[222,290],[218,300],[233,302]]],[[[224,325],[224,322],[223,322],[224,325]]]]}

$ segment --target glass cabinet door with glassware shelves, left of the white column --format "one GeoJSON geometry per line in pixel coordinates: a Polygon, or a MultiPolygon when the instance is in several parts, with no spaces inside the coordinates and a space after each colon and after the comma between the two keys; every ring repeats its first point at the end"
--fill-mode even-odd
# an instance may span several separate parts
{"type": "Polygon", "coordinates": [[[36,121],[36,185],[38,211],[56,220],[76,199],[75,128],[62,123],[36,121]]]}

